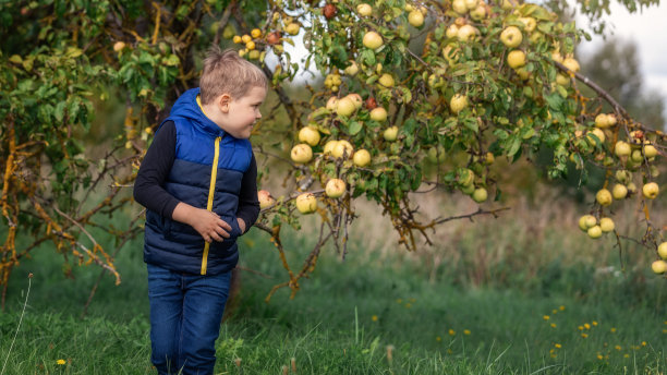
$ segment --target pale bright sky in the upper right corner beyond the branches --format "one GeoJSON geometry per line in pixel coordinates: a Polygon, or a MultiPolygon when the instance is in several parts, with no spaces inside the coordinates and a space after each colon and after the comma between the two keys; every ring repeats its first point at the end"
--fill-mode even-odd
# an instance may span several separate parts
{"type": "MultiPolygon", "coordinates": [[[[606,20],[609,21],[613,35],[636,44],[644,87],[663,94],[667,117],[667,0],[632,14],[614,2],[606,20]]],[[[577,25],[585,25],[585,20],[577,17],[577,25]]],[[[603,43],[601,36],[592,36],[593,40],[580,44],[580,51],[584,55],[591,53],[603,43]]]]}

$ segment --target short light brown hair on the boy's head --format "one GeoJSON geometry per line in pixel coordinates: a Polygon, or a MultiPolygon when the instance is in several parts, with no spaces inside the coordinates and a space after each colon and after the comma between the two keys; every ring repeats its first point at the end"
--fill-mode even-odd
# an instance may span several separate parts
{"type": "Polygon", "coordinates": [[[222,94],[238,99],[252,87],[268,88],[268,80],[257,65],[243,59],[233,49],[214,46],[206,53],[199,77],[202,104],[207,105],[222,94]]]}

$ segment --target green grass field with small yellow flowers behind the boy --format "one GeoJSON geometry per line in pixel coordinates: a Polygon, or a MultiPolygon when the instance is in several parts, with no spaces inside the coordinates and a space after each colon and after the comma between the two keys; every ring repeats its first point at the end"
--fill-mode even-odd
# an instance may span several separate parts
{"type": "MultiPolygon", "coordinates": [[[[304,233],[286,241],[294,264],[311,244],[304,233]]],[[[521,244],[514,234],[502,241],[521,244]]],[[[541,241],[561,246],[560,234],[551,235],[541,241]]],[[[85,318],[81,313],[98,268],[75,267],[75,280],[64,279],[62,257],[46,247],[24,261],[0,314],[3,374],[151,374],[141,241],[121,251],[123,282],[114,287],[107,276],[85,318]],[[29,299],[10,353],[28,271],[29,299]]],[[[458,276],[474,266],[464,256],[456,264],[446,258],[434,273],[402,249],[364,250],[368,242],[353,239],[344,262],[327,247],[293,300],[282,289],[266,304],[271,286],[287,274],[265,233],[244,237],[241,265],[254,271],[240,271],[241,289],[217,342],[216,374],[292,374],[292,362],[299,374],[667,371],[664,280],[641,273],[593,277],[592,266],[557,257],[494,282],[494,275],[508,273],[502,267],[521,262],[506,259],[475,285],[458,276]]],[[[462,238],[458,246],[468,254],[480,243],[462,238]]]]}

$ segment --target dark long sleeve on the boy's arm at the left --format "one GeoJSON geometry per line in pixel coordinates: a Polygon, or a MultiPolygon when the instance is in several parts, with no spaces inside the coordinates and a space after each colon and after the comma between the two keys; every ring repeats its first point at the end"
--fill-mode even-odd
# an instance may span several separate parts
{"type": "Polygon", "coordinates": [[[134,181],[134,201],[171,218],[179,199],[165,190],[165,181],[175,158],[175,124],[167,121],[155,134],[134,181]]]}

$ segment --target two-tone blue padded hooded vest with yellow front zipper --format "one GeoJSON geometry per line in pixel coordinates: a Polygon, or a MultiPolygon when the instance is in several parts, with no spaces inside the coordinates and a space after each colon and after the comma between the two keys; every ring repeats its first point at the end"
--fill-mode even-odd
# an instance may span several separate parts
{"type": "MultiPolygon", "coordinates": [[[[230,238],[207,244],[189,225],[146,213],[144,261],[174,271],[216,275],[239,262],[237,221],[243,173],[253,156],[248,140],[238,140],[210,121],[197,104],[198,88],[185,92],[166,121],[175,124],[175,159],[165,190],[177,199],[218,214],[230,238]]],[[[159,131],[159,130],[158,130],[159,131]]]]}

